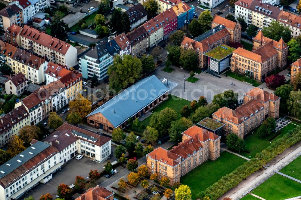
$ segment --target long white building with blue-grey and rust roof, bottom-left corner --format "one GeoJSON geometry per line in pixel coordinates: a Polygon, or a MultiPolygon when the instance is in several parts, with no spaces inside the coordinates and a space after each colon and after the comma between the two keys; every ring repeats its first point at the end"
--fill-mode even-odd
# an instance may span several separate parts
{"type": "Polygon", "coordinates": [[[63,165],[55,147],[40,141],[32,143],[0,166],[0,199],[20,198],[40,182],[47,183],[63,165]]]}

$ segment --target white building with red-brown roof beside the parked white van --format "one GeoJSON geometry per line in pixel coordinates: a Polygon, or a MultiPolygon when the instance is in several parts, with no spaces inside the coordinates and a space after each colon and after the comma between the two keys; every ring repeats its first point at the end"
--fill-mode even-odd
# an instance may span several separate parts
{"type": "Polygon", "coordinates": [[[56,131],[70,130],[77,139],[77,153],[93,158],[97,162],[104,162],[112,153],[111,138],[64,123],[56,131]]]}

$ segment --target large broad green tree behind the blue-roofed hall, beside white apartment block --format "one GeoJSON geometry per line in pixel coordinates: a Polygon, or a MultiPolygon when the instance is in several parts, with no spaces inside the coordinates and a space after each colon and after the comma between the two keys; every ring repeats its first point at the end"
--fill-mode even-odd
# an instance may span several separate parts
{"type": "Polygon", "coordinates": [[[138,58],[131,55],[116,56],[113,64],[108,67],[107,72],[110,80],[110,89],[119,92],[130,83],[135,83],[141,76],[141,71],[142,64],[138,58]]]}

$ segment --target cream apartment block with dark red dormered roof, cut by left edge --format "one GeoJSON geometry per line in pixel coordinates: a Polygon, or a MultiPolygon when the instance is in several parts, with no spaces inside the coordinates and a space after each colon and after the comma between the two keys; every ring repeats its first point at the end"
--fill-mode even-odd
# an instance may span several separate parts
{"type": "Polygon", "coordinates": [[[0,147],[9,142],[11,135],[19,135],[19,130],[29,124],[29,113],[23,105],[3,117],[0,116],[0,147]]]}

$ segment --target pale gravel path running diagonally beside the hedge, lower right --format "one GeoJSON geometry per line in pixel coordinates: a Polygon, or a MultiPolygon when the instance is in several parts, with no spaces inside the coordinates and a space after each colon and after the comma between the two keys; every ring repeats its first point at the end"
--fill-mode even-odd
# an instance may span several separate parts
{"type": "Polygon", "coordinates": [[[261,168],[258,171],[254,172],[249,177],[247,177],[246,180],[241,181],[236,187],[230,189],[228,192],[222,195],[220,199],[223,199],[225,197],[230,197],[232,199],[240,199],[244,195],[247,195],[266,179],[274,175],[275,171],[279,171],[287,164],[292,162],[294,159],[296,159],[298,157],[298,154],[301,153],[300,144],[301,142],[299,141],[297,144],[286,149],[283,153],[281,153],[275,159],[269,162],[270,167],[268,167],[267,170],[263,170],[261,168]]]}

